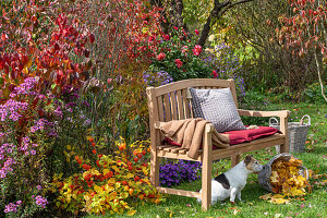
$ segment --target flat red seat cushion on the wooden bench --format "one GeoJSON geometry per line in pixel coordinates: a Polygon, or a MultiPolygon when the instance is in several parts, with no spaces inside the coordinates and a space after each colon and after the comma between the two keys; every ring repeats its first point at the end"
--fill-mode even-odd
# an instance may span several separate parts
{"type": "Polygon", "coordinates": [[[280,131],[270,126],[258,126],[258,129],[229,131],[223,134],[229,134],[230,145],[237,145],[244,142],[251,142],[258,137],[274,135],[280,131]]]}

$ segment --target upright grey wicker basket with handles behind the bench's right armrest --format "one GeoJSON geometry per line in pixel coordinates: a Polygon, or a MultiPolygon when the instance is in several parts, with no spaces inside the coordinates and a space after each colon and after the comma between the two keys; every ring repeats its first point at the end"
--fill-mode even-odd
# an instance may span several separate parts
{"type": "MultiPolygon", "coordinates": [[[[276,118],[270,118],[269,126],[280,130],[280,125],[276,118]]],[[[300,122],[289,122],[289,146],[290,153],[302,153],[305,148],[305,141],[311,126],[311,118],[305,114],[301,118],[300,122]],[[307,123],[304,123],[304,118],[307,118],[307,123]]],[[[276,146],[277,153],[279,153],[279,145],[276,146]]]]}

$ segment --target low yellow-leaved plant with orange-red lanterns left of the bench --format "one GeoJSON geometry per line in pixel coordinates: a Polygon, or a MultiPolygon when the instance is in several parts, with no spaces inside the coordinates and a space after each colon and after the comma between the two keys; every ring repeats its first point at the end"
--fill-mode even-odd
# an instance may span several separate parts
{"type": "MultiPolygon", "coordinates": [[[[92,138],[88,137],[89,141],[92,138]]],[[[117,145],[121,146],[122,143],[124,143],[123,140],[117,145]]],[[[129,204],[137,204],[136,199],[159,204],[164,201],[162,195],[152,186],[148,178],[149,166],[148,162],[145,162],[148,153],[144,150],[148,146],[148,142],[135,142],[133,146],[123,147],[124,149],[113,155],[95,154],[97,159],[94,165],[84,157],[75,158],[76,161],[83,161],[78,164],[83,172],[66,179],[62,179],[62,174],[53,177],[50,190],[59,194],[56,202],[57,207],[75,215],[78,211],[87,214],[122,214],[126,211],[129,216],[133,216],[136,210],[129,204]],[[133,147],[133,150],[136,152],[130,150],[128,154],[128,147],[133,147]],[[133,161],[135,157],[137,157],[137,161],[133,161]],[[134,201],[126,201],[129,198],[134,201]]]]}

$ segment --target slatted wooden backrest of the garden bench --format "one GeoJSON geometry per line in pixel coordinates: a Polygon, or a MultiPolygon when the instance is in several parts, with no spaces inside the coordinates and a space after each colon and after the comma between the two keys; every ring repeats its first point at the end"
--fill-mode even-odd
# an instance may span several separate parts
{"type": "Polygon", "coordinates": [[[171,121],[193,118],[191,99],[187,98],[189,87],[206,89],[230,87],[238,108],[235,85],[232,78],[190,78],[178,81],[159,87],[146,88],[150,124],[154,121],[171,121]]]}

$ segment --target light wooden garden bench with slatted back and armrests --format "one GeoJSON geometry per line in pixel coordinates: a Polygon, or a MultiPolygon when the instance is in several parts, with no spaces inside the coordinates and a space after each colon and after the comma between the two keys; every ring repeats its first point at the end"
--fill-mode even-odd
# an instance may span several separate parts
{"type": "Polygon", "coordinates": [[[211,201],[211,164],[213,160],[231,157],[232,167],[240,161],[240,155],[252,150],[280,145],[280,153],[288,153],[288,117],[290,111],[253,111],[238,109],[240,116],[247,117],[279,117],[281,134],[257,138],[250,143],[232,145],[226,148],[213,149],[211,132],[214,125],[206,124],[203,134],[203,149],[198,157],[187,157],[186,150],[178,146],[161,145],[164,135],[160,133],[160,122],[193,118],[187,88],[226,88],[230,87],[235,106],[238,99],[233,80],[191,78],[170,83],[159,87],[147,87],[150,130],[150,182],[161,193],[175,194],[202,199],[202,207],[207,210],[211,201]],[[174,158],[202,161],[202,193],[159,186],[159,158],[174,158]]]}

